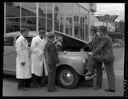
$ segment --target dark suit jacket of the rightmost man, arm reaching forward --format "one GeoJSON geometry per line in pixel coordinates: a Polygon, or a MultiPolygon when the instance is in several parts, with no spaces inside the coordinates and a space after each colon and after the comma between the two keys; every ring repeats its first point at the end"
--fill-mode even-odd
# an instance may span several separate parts
{"type": "Polygon", "coordinates": [[[115,60],[113,55],[112,39],[108,35],[102,38],[97,48],[92,51],[92,54],[96,55],[100,51],[104,63],[113,62],[115,60]]]}

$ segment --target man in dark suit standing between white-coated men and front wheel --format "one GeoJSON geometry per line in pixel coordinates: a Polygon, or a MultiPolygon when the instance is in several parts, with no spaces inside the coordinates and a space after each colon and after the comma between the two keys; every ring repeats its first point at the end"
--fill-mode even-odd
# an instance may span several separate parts
{"type": "Polygon", "coordinates": [[[49,32],[47,34],[47,44],[45,46],[46,51],[46,64],[48,66],[48,92],[57,92],[55,88],[55,75],[56,65],[59,63],[57,48],[54,43],[54,33],[49,32]]]}

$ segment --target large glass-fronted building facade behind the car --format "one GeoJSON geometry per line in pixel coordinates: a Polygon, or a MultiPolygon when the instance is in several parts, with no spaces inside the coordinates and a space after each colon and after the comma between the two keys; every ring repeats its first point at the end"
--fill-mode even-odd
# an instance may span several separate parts
{"type": "Polygon", "coordinates": [[[96,11],[95,4],[85,3],[4,3],[4,33],[20,31],[54,31],[83,41],[89,40],[89,28],[93,23],[90,15],[96,11]],[[94,7],[93,7],[94,6],[94,7]]]}

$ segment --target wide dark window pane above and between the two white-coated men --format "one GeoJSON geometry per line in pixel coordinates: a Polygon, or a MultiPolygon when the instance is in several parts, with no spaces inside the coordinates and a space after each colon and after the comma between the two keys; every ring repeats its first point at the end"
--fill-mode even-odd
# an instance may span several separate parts
{"type": "Polygon", "coordinates": [[[22,17],[21,28],[28,27],[30,31],[36,31],[36,17],[22,17]]]}

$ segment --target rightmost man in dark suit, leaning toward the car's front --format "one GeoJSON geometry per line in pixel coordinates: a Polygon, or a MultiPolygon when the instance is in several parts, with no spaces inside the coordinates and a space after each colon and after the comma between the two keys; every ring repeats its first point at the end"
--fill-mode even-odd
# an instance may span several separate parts
{"type": "Polygon", "coordinates": [[[97,48],[92,51],[92,62],[90,65],[93,65],[94,61],[104,63],[109,83],[109,88],[105,91],[115,92],[115,74],[113,69],[113,62],[115,58],[113,55],[112,40],[107,35],[106,27],[100,26],[99,33],[101,35],[101,42],[97,48]],[[99,52],[101,52],[101,55],[97,54],[99,52]]]}

